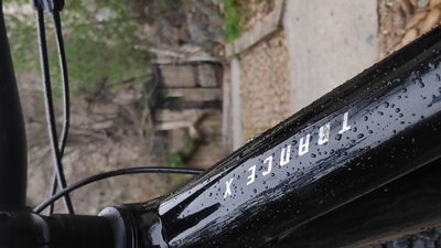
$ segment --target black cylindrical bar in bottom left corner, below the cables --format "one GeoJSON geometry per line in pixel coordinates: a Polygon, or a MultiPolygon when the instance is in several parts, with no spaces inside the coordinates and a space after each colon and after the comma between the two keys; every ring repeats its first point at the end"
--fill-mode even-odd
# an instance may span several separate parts
{"type": "MultiPolygon", "coordinates": [[[[112,216],[115,218],[115,216],[112,216]]],[[[109,248],[114,230],[104,216],[41,216],[30,211],[0,212],[0,247],[109,248]]]]}

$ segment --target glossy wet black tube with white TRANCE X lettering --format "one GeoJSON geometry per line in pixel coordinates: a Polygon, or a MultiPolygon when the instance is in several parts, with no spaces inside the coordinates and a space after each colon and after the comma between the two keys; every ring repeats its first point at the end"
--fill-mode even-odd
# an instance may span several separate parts
{"type": "Polygon", "coordinates": [[[440,41],[440,29],[423,35],[161,201],[157,238],[287,247],[306,224],[340,218],[336,209],[439,159],[440,41]]]}

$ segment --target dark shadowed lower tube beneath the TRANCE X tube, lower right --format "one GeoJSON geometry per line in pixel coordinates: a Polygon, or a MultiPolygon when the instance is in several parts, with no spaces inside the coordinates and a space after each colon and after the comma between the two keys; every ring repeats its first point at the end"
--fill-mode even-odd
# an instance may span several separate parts
{"type": "Polygon", "coordinates": [[[437,160],[303,225],[277,247],[372,247],[440,226],[440,174],[437,160]]]}

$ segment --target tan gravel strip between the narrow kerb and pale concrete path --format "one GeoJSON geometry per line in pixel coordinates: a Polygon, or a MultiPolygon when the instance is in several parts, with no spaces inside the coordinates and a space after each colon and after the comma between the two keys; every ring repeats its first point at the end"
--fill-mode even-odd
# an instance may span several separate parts
{"type": "Polygon", "coordinates": [[[240,55],[241,140],[257,136],[292,112],[288,50],[278,31],[240,55]]]}

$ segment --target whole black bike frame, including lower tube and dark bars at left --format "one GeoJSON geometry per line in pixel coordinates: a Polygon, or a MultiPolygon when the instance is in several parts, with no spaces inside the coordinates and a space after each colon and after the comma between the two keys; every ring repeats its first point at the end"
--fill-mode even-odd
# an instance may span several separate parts
{"type": "Polygon", "coordinates": [[[1,91],[0,130],[21,139],[0,147],[2,234],[26,230],[35,247],[364,247],[441,224],[441,28],[169,196],[99,217],[25,208],[24,129],[3,28],[0,88],[12,91],[1,91]]]}

